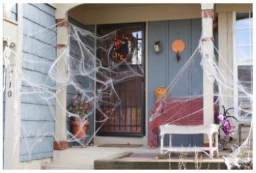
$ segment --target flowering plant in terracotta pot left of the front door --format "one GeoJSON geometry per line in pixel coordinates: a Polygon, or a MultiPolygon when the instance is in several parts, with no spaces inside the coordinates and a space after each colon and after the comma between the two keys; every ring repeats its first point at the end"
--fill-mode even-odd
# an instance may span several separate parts
{"type": "Polygon", "coordinates": [[[89,121],[87,114],[90,110],[89,101],[77,93],[71,98],[71,105],[69,106],[69,112],[77,116],[71,116],[71,132],[75,137],[82,138],[86,136],[86,132],[89,127],[89,121]]]}

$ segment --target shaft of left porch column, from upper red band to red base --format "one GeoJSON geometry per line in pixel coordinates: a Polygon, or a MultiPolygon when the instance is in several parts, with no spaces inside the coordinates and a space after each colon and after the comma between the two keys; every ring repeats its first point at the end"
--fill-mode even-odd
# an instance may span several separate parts
{"type": "Polygon", "coordinates": [[[54,149],[67,149],[67,130],[66,130],[66,108],[67,108],[67,65],[65,54],[67,46],[68,23],[65,19],[57,19],[57,75],[56,75],[56,108],[55,108],[55,142],[54,149]],[[62,57],[61,57],[62,56],[62,57]]]}

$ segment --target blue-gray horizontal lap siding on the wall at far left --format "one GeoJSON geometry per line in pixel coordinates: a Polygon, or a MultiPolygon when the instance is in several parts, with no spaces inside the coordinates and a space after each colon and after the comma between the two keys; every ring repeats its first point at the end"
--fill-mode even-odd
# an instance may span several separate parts
{"type": "MultiPolygon", "coordinates": [[[[56,60],[55,9],[46,4],[24,4],[23,15],[23,32],[26,37],[22,73],[33,84],[55,87],[55,81],[49,79],[48,75],[56,60]],[[32,34],[36,32],[39,33],[32,34]]],[[[33,91],[31,85],[23,80],[20,162],[51,158],[53,155],[55,97],[45,91],[40,95],[33,91]],[[49,100],[42,99],[51,96],[49,100]]],[[[54,90],[51,92],[55,93],[54,90]]]]}

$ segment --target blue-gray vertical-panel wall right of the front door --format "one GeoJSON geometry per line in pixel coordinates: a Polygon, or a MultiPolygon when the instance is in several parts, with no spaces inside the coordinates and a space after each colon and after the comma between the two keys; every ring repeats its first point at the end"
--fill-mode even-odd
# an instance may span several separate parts
{"type": "MultiPolygon", "coordinates": [[[[183,65],[191,57],[199,43],[201,36],[201,20],[172,20],[148,22],[148,112],[154,110],[154,90],[160,86],[167,87],[183,65]],[[181,53],[181,60],[177,63],[176,54],[170,46],[175,39],[185,41],[186,48],[181,53]],[[154,53],[153,46],[156,40],[162,42],[162,52],[154,53]]],[[[170,98],[202,94],[202,71],[199,65],[201,59],[196,58],[190,73],[185,73],[177,85],[171,90],[170,98]],[[196,75],[193,73],[196,72],[196,75]]],[[[187,71],[186,70],[186,71],[187,71]]],[[[168,140],[165,141],[167,143],[168,140]]],[[[173,145],[201,145],[202,135],[173,135],[173,145]]]]}

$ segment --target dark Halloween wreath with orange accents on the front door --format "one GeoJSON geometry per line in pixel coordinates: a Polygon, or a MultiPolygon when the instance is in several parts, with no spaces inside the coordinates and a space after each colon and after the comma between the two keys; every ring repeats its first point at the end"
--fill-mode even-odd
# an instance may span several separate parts
{"type": "Polygon", "coordinates": [[[117,34],[113,48],[110,51],[110,59],[115,63],[131,61],[136,44],[136,38],[131,33],[121,32],[117,34]]]}

